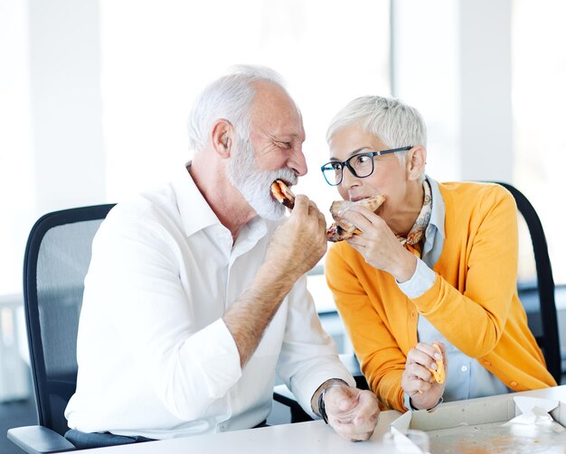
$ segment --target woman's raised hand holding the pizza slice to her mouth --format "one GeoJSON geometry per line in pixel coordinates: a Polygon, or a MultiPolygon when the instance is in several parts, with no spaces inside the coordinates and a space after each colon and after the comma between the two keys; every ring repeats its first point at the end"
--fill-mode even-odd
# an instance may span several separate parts
{"type": "Polygon", "coordinates": [[[341,216],[362,231],[347,241],[368,264],[390,273],[400,283],[410,279],[417,266],[415,256],[401,246],[380,216],[365,207],[350,208],[341,216]]]}

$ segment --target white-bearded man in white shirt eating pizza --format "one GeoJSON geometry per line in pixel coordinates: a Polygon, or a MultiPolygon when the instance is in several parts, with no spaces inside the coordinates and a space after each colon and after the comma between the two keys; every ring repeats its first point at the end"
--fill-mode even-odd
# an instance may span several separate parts
{"type": "Polygon", "coordinates": [[[325,218],[299,195],[283,220],[270,195],[307,172],[297,106],[277,73],[243,67],[205,88],[189,134],[193,162],[118,204],[93,242],[67,438],[87,448],[252,428],[277,371],[312,416],[368,439],[377,400],[354,387],[307,292],[325,218]]]}

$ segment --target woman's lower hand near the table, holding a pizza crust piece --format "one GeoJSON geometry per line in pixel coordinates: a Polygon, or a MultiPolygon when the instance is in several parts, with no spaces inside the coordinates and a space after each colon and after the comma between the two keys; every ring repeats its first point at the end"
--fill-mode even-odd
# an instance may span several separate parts
{"type": "Polygon", "coordinates": [[[410,404],[418,410],[434,407],[444,394],[446,382],[437,383],[429,371],[429,369],[436,370],[435,359],[441,359],[448,374],[446,347],[442,342],[435,343],[440,347],[442,354],[439,354],[432,345],[420,342],[409,350],[405,370],[401,375],[401,388],[410,395],[410,404]]]}

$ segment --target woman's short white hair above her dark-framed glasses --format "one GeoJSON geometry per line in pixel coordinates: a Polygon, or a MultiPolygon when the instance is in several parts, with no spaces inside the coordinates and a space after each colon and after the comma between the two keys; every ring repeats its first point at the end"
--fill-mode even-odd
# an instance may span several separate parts
{"type": "MultiPolygon", "coordinates": [[[[427,146],[427,126],[419,111],[391,97],[357,97],[333,118],[326,132],[326,142],[348,126],[380,138],[388,148],[427,146]]],[[[409,152],[395,153],[401,162],[409,152]]]]}

